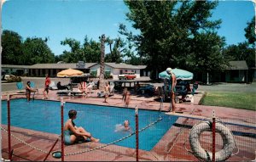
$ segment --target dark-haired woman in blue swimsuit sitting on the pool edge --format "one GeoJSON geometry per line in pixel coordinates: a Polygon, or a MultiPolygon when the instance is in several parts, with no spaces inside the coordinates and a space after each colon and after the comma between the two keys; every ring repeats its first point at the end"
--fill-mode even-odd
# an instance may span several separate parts
{"type": "Polygon", "coordinates": [[[77,111],[74,109],[69,110],[68,112],[69,119],[64,125],[64,142],[66,145],[73,144],[77,142],[79,137],[84,137],[84,140],[90,139],[91,142],[99,142],[100,140],[92,137],[90,132],[85,131],[83,127],[77,127],[73,120],[77,117],[77,111]]]}

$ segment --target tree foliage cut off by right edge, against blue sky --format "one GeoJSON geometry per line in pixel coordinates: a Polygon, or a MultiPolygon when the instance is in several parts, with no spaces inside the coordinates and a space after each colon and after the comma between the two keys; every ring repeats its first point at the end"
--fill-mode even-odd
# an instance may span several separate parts
{"type": "Polygon", "coordinates": [[[256,31],[255,31],[255,16],[251,22],[247,22],[247,27],[244,29],[246,32],[245,36],[250,44],[255,45],[256,42],[256,31]]]}

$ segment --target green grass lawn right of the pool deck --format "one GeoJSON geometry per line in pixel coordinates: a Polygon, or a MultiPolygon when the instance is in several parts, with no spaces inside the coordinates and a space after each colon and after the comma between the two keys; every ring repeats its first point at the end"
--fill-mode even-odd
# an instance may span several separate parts
{"type": "Polygon", "coordinates": [[[202,105],[256,110],[256,94],[241,92],[207,92],[202,105]]]}

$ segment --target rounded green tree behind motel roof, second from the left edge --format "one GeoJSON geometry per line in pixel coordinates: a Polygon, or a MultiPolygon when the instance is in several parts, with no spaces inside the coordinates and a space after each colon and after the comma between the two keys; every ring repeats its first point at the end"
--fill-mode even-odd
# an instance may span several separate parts
{"type": "Polygon", "coordinates": [[[22,45],[23,64],[54,63],[55,55],[47,45],[47,39],[27,37],[22,45]]]}

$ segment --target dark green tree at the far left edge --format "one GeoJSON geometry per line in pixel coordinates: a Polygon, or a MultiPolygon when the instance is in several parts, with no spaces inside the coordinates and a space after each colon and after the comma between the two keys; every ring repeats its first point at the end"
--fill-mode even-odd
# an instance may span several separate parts
{"type": "Polygon", "coordinates": [[[22,38],[15,31],[4,30],[2,35],[2,64],[24,64],[22,38]]]}

